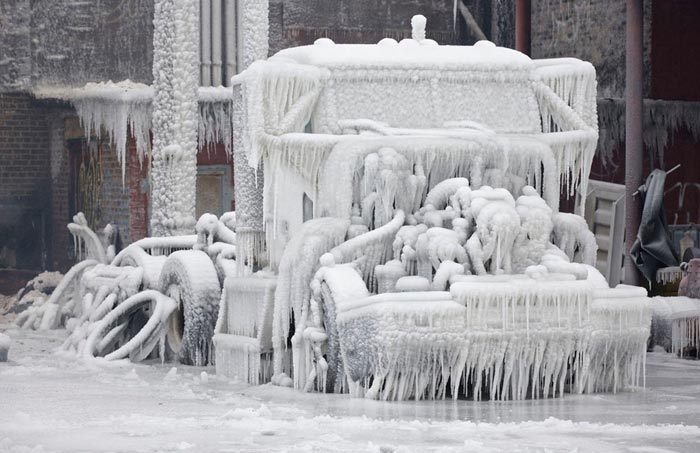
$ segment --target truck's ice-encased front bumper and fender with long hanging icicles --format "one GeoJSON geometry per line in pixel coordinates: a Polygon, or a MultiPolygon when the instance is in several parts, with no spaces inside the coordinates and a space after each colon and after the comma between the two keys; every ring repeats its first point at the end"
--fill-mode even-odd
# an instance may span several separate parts
{"type": "Polygon", "coordinates": [[[316,278],[338,313],[337,332],[326,332],[339,337],[334,360],[366,397],[523,399],[639,385],[643,289],[491,276],[465,277],[449,293],[367,297],[344,272],[331,263],[316,278]]]}

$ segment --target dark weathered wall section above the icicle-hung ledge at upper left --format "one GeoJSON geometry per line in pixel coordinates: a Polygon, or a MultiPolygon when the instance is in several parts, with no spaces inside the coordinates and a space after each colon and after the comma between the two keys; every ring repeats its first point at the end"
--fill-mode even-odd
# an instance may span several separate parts
{"type": "Polygon", "coordinates": [[[2,0],[0,91],[150,83],[153,0],[2,0]]]}

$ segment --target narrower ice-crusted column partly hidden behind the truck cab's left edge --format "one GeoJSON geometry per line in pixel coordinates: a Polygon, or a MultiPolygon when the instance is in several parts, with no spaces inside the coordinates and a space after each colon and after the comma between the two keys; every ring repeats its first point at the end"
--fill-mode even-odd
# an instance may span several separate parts
{"type": "MultiPolygon", "coordinates": [[[[239,69],[242,71],[256,60],[267,58],[268,11],[267,0],[239,2],[239,69]]],[[[239,265],[248,268],[259,264],[264,251],[263,232],[263,172],[262,167],[248,164],[243,147],[243,105],[240,85],[233,89],[233,164],[236,177],[236,233],[239,265]]]]}

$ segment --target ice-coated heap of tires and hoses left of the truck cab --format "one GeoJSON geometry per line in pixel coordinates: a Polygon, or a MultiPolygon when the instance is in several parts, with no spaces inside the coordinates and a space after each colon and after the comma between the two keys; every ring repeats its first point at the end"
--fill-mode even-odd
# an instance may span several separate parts
{"type": "Polygon", "coordinates": [[[85,259],[48,300],[20,313],[18,325],[66,327],[62,349],[85,357],[213,362],[221,285],[236,272],[233,213],[205,214],[196,234],[141,239],[116,256],[109,228],[100,239],[80,213],[68,227],[85,259]]]}

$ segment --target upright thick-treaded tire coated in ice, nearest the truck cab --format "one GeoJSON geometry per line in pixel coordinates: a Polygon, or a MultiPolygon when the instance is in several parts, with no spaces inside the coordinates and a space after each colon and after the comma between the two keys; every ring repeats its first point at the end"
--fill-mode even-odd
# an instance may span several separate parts
{"type": "Polygon", "coordinates": [[[213,357],[212,337],[221,298],[211,258],[199,250],[171,254],[163,265],[159,288],[177,303],[168,321],[169,358],[187,365],[207,365],[213,357]]]}

